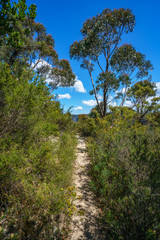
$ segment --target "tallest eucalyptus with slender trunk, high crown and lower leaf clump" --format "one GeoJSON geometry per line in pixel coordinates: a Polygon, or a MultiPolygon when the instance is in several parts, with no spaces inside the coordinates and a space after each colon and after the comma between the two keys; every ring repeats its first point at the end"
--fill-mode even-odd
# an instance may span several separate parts
{"type": "Polygon", "coordinates": [[[110,60],[121,43],[122,36],[132,32],[135,16],[130,9],[104,9],[85,21],[81,29],[82,40],[75,41],[70,47],[70,57],[81,61],[81,67],[87,69],[101,116],[106,115],[110,93],[119,87],[119,79],[111,71],[110,60]],[[93,71],[99,68],[96,81],[93,71]],[[103,108],[99,104],[98,92],[103,95],[103,108]]]}

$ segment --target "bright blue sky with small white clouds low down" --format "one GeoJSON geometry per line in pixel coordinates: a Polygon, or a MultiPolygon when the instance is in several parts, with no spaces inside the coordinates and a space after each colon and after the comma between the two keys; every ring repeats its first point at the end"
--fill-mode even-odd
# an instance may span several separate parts
{"type": "Polygon", "coordinates": [[[37,5],[36,21],[42,23],[48,34],[55,40],[55,49],[60,59],[69,60],[76,75],[76,84],[70,88],[58,88],[58,94],[64,111],[70,107],[73,114],[87,114],[95,106],[89,74],[80,68],[80,63],[71,60],[69,48],[82,36],[80,30],[86,19],[96,16],[105,8],[132,9],[136,26],[132,33],[122,38],[122,43],[130,43],[146,55],[153,64],[152,81],[156,82],[160,94],[160,0],[28,0],[28,5],[37,5]]]}

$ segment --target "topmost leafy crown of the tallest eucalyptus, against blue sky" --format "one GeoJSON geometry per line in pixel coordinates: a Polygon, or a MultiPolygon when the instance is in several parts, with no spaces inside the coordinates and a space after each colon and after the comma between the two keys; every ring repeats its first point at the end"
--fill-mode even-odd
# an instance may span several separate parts
{"type": "Polygon", "coordinates": [[[114,44],[119,43],[123,33],[133,31],[135,17],[129,9],[105,9],[96,17],[83,24],[81,33],[84,36],[79,42],[71,45],[70,56],[80,60],[82,57],[99,57],[114,44]]]}

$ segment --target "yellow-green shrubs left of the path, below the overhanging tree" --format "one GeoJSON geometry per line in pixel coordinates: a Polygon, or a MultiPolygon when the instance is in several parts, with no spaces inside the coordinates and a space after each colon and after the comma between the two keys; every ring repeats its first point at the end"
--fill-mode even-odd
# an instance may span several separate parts
{"type": "Polygon", "coordinates": [[[75,197],[71,115],[35,73],[0,70],[0,239],[60,238],[75,197]]]}

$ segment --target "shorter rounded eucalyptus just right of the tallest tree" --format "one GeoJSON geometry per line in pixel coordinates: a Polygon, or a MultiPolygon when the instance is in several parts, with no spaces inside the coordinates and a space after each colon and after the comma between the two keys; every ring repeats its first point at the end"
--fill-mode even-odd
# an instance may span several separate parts
{"type": "Polygon", "coordinates": [[[149,81],[151,80],[150,70],[153,66],[149,60],[146,60],[145,55],[137,52],[131,44],[123,44],[116,49],[110,63],[112,71],[120,81],[121,90],[118,92],[118,97],[122,99],[121,106],[125,103],[128,88],[137,81],[141,80],[142,85],[152,89],[153,85],[149,81]],[[142,82],[144,78],[148,81],[142,82]]]}

